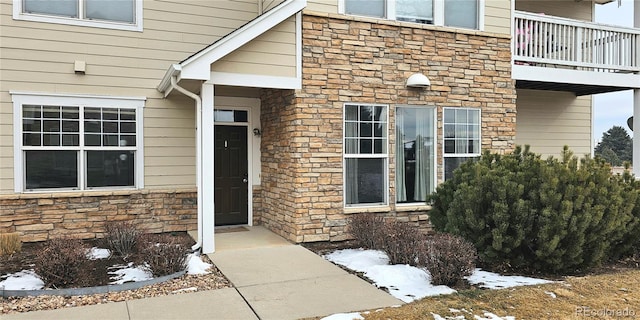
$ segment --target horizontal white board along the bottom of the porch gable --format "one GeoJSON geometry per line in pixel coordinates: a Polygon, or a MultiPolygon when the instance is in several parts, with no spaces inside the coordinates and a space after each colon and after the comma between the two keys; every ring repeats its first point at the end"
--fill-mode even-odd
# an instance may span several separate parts
{"type": "Polygon", "coordinates": [[[228,72],[211,72],[209,82],[227,86],[273,88],[273,89],[302,89],[302,78],[277,77],[256,74],[239,74],[228,72]]]}

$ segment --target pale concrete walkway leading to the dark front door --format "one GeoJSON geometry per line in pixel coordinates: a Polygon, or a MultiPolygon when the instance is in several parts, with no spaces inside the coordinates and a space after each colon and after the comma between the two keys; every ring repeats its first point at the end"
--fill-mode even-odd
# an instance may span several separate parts
{"type": "Polygon", "coordinates": [[[402,301],[262,227],[216,233],[209,255],[234,288],[0,316],[26,319],[299,319],[402,301]]]}

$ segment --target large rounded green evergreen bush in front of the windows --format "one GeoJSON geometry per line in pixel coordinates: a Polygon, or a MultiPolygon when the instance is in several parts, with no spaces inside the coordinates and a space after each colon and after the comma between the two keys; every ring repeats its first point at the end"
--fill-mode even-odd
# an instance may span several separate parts
{"type": "Polygon", "coordinates": [[[461,165],[430,196],[430,219],[471,241],[484,262],[574,272],[638,243],[638,193],[633,177],[611,175],[599,158],[578,160],[565,147],[561,160],[543,160],[517,147],[461,165]]]}

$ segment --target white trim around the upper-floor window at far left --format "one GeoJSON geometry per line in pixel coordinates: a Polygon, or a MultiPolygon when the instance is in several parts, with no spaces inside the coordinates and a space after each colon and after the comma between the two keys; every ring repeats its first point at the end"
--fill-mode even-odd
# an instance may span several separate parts
{"type": "MultiPolygon", "coordinates": [[[[78,0],[82,1],[82,0],[78,0]]],[[[34,21],[34,22],[46,22],[46,23],[55,23],[55,24],[66,24],[72,26],[83,26],[83,27],[95,27],[102,29],[115,29],[115,30],[125,30],[125,31],[142,31],[142,5],[143,0],[135,0],[135,23],[126,23],[126,22],[110,22],[104,20],[90,20],[90,19],[82,19],[82,18],[70,18],[70,17],[58,17],[54,15],[47,14],[38,14],[38,13],[26,13],[23,12],[23,2],[22,0],[13,0],[13,19],[14,20],[24,20],[24,21],[34,21]]]]}

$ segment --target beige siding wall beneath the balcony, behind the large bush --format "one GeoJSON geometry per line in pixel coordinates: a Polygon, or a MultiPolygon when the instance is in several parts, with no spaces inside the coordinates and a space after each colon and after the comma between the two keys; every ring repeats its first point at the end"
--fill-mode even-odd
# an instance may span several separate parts
{"type": "Polygon", "coordinates": [[[568,145],[579,156],[591,154],[591,96],[518,89],[516,144],[559,156],[568,145]]]}

